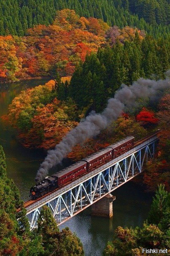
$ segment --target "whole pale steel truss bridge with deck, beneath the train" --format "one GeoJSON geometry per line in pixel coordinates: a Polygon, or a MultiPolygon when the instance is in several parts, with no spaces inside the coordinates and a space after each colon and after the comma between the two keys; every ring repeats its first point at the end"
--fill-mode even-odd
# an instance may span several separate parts
{"type": "Polygon", "coordinates": [[[43,205],[49,206],[57,223],[61,224],[140,174],[143,165],[154,157],[157,140],[157,136],[141,140],[107,164],[25,206],[30,229],[37,227],[43,205]]]}

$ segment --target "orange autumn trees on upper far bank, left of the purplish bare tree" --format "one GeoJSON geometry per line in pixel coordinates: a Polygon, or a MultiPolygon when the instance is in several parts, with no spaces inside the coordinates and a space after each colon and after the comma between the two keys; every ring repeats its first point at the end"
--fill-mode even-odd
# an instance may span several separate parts
{"type": "Polygon", "coordinates": [[[56,71],[70,76],[80,59],[105,43],[108,28],[103,21],[65,9],[57,11],[53,25],[37,25],[22,38],[0,36],[0,79],[51,75],[56,64],[56,71]]]}

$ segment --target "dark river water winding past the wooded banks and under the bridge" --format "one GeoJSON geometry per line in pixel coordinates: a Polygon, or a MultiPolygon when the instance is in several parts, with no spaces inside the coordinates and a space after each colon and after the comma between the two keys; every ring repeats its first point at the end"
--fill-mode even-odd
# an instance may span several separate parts
{"type": "MultiPolygon", "coordinates": [[[[7,114],[8,105],[23,89],[46,83],[47,80],[30,80],[13,84],[0,84],[0,116],[7,114]]],[[[23,200],[28,200],[29,189],[34,184],[38,167],[46,156],[42,150],[29,150],[16,139],[16,131],[3,124],[0,119],[0,145],[3,146],[8,177],[19,187],[23,200]]],[[[76,232],[84,245],[86,256],[101,256],[108,240],[112,240],[116,227],[141,226],[147,218],[151,204],[151,193],[130,181],[116,189],[113,202],[114,216],[105,219],[92,217],[90,207],[67,221],[60,228],[68,226],[76,232]]]]}

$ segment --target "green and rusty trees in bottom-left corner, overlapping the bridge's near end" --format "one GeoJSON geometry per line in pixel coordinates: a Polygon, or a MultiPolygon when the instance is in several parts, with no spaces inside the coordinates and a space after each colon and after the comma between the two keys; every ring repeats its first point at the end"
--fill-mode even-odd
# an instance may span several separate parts
{"type": "Polygon", "coordinates": [[[38,228],[30,231],[19,189],[6,174],[5,154],[0,146],[0,255],[83,256],[80,239],[68,228],[59,231],[47,206],[43,206],[38,228]],[[21,208],[20,212],[16,210],[21,208]],[[20,220],[20,223],[18,222],[20,220]]]}

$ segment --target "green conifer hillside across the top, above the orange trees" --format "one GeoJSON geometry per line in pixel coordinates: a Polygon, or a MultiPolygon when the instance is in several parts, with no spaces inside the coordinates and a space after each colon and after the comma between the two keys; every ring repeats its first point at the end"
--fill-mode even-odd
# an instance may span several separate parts
{"type": "Polygon", "coordinates": [[[0,35],[23,36],[27,28],[51,24],[56,10],[64,8],[120,28],[137,27],[155,37],[169,33],[170,7],[166,0],[5,0],[0,1],[0,35]]]}

